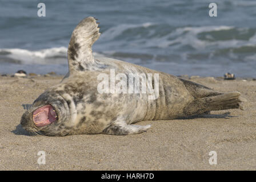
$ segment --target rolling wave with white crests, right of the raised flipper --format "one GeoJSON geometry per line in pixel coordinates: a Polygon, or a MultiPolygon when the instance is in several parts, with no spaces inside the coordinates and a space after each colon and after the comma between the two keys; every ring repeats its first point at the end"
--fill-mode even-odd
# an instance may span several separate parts
{"type": "Polygon", "coordinates": [[[135,51],[139,48],[139,51],[149,52],[149,49],[164,48],[172,52],[203,51],[205,53],[223,48],[254,46],[256,29],[233,26],[171,27],[153,23],[119,24],[103,32],[100,41],[102,49],[105,47],[117,51],[121,49],[135,51]],[[129,43],[126,40],[129,40],[129,43]]]}

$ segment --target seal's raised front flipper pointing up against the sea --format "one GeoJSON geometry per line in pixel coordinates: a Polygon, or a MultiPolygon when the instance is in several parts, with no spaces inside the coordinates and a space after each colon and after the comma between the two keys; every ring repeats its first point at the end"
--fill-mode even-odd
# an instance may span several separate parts
{"type": "Polygon", "coordinates": [[[67,50],[69,73],[85,71],[94,63],[91,46],[99,38],[99,27],[96,19],[88,17],[75,27],[67,50]]]}

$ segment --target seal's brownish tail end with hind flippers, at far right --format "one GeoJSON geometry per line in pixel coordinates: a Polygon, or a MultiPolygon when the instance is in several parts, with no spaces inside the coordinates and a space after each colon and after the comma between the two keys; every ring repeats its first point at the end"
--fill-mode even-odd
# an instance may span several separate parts
{"type": "Polygon", "coordinates": [[[219,96],[198,98],[185,109],[186,115],[202,114],[211,110],[242,109],[245,98],[239,92],[223,93],[219,96]],[[194,109],[193,109],[194,108],[194,109]],[[187,110],[187,111],[186,111],[187,110]]]}

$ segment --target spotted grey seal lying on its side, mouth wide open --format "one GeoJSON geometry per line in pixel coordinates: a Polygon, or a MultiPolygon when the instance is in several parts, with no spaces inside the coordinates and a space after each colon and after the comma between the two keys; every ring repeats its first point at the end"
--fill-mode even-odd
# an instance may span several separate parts
{"type": "MultiPolygon", "coordinates": [[[[239,92],[221,93],[195,82],[107,57],[94,57],[91,50],[99,38],[97,20],[83,19],[71,35],[67,51],[69,73],[58,85],[41,94],[21,118],[22,127],[48,136],[75,134],[138,134],[150,125],[139,121],[175,119],[211,110],[242,109],[239,92]],[[158,74],[158,97],[149,93],[98,92],[100,74],[158,74]]],[[[127,85],[128,85],[128,80],[127,85]]]]}

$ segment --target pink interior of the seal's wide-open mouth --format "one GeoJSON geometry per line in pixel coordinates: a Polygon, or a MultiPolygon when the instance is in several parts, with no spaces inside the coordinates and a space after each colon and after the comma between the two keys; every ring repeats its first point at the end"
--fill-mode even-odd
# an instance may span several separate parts
{"type": "Polygon", "coordinates": [[[55,110],[51,105],[39,107],[33,112],[33,121],[35,123],[35,126],[37,127],[49,125],[56,120],[57,114],[55,113],[55,110]]]}

